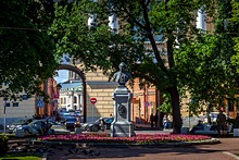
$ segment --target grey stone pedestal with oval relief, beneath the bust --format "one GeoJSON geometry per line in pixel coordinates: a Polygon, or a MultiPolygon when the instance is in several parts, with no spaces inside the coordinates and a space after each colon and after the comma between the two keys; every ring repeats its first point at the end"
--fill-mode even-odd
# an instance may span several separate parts
{"type": "Polygon", "coordinates": [[[135,127],[130,121],[131,93],[125,86],[118,86],[114,94],[114,121],[111,124],[112,137],[135,136],[135,127]]]}

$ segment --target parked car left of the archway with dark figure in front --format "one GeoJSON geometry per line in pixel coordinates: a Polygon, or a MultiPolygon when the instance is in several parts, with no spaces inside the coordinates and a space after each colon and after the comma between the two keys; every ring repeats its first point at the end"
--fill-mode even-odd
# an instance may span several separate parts
{"type": "MultiPolygon", "coordinates": [[[[39,128],[42,128],[47,123],[47,120],[36,120],[27,125],[15,128],[15,134],[24,132],[24,135],[40,135],[39,128]]],[[[53,120],[49,120],[50,128],[48,134],[70,134],[64,125],[58,124],[53,120]]]]}

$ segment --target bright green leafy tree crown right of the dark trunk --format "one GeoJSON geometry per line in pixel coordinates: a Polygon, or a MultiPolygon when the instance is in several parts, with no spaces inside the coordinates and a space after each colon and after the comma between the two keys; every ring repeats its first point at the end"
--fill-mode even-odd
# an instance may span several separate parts
{"type": "Polygon", "coordinates": [[[207,107],[225,107],[224,100],[236,101],[237,66],[230,63],[236,54],[232,38],[239,32],[238,24],[229,23],[231,17],[230,0],[215,1],[215,32],[194,37],[180,45],[176,54],[176,65],[181,71],[183,90],[190,93],[190,111],[198,114],[207,107]]]}

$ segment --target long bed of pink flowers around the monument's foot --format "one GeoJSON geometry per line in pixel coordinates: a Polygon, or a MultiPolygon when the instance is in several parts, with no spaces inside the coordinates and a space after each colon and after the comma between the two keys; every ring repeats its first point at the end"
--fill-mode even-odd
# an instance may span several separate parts
{"type": "Polygon", "coordinates": [[[133,137],[111,137],[109,134],[84,133],[77,135],[49,135],[38,137],[37,141],[98,143],[114,145],[156,145],[167,143],[197,143],[211,139],[205,135],[183,134],[137,134],[133,137]]]}

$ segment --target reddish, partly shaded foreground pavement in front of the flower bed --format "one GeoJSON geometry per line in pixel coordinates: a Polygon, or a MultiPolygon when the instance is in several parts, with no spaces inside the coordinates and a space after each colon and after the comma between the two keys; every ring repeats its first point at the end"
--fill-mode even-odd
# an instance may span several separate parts
{"type": "Polygon", "coordinates": [[[53,150],[48,160],[239,160],[232,153],[239,153],[239,138],[219,138],[221,144],[196,145],[172,148],[80,148],[72,150],[53,150]]]}

